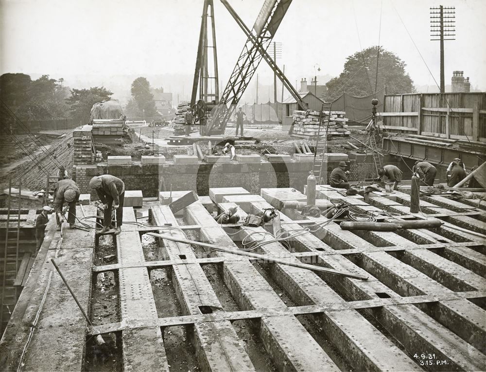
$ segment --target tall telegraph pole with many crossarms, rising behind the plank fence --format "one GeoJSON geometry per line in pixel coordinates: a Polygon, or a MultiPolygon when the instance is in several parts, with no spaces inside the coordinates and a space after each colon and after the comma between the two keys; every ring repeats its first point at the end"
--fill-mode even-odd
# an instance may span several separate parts
{"type": "Polygon", "coordinates": [[[444,40],[455,40],[450,37],[455,36],[455,7],[430,8],[430,36],[438,37],[440,41],[440,93],[445,93],[444,80],[444,40]]]}

